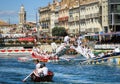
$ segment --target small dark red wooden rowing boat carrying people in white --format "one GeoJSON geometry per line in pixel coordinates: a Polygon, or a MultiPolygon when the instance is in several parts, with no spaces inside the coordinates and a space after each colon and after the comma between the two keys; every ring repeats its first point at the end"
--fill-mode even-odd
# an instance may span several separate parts
{"type": "Polygon", "coordinates": [[[48,71],[48,75],[43,77],[38,77],[34,73],[32,73],[31,80],[34,82],[51,82],[53,76],[54,76],[54,73],[52,71],[48,71]]]}

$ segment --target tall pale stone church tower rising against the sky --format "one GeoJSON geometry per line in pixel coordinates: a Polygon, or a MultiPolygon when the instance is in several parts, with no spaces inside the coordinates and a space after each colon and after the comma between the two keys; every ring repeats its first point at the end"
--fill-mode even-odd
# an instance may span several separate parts
{"type": "Polygon", "coordinates": [[[26,23],[26,11],[24,6],[21,5],[19,12],[19,28],[24,28],[25,23],[26,23]]]}

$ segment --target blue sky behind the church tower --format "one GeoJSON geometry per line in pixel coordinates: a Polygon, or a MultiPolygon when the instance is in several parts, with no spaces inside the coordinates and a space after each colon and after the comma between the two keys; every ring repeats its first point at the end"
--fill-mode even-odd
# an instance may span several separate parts
{"type": "Polygon", "coordinates": [[[36,13],[39,7],[47,6],[53,0],[0,0],[0,20],[18,24],[19,11],[24,5],[27,21],[36,21],[36,13]]]}

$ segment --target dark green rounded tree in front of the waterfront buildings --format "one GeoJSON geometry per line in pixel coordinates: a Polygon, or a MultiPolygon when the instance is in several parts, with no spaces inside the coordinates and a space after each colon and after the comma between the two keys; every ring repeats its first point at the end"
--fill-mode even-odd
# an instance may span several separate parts
{"type": "Polygon", "coordinates": [[[66,36],[67,32],[64,27],[54,27],[52,29],[53,36],[66,36]]]}

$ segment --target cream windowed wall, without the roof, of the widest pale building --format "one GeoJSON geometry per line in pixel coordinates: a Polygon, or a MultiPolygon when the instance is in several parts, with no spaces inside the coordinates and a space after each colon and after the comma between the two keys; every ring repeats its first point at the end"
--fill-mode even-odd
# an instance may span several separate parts
{"type": "Polygon", "coordinates": [[[102,31],[99,3],[82,5],[80,9],[80,18],[84,20],[80,24],[81,31],[90,30],[89,32],[95,32],[95,29],[102,31]]]}

